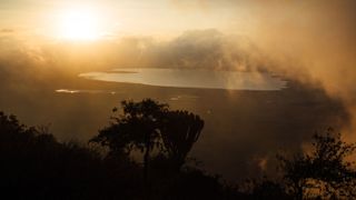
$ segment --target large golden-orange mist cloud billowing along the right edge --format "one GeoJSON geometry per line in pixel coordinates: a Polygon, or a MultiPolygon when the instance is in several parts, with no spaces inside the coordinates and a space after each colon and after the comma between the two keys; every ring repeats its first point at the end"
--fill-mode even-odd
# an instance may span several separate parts
{"type": "MultiPolygon", "coordinates": [[[[258,26],[250,39],[278,69],[319,84],[355,113],[356,1],[258,1],[251,11],[258,26]]],[[[356,131],[353,118],[354,128],[344,131],[349,136],[356,131]]]]}

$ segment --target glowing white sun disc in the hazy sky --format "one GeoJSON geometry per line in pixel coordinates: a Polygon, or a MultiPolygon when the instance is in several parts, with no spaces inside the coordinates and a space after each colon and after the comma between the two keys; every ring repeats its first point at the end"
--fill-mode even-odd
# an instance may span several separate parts
{"type": "Polygon", "coordinates": [[[60,38],[68,40],[95,40],[99,38],[99,18],[90,10],[70,10],[61,14],[60,38]]]}

